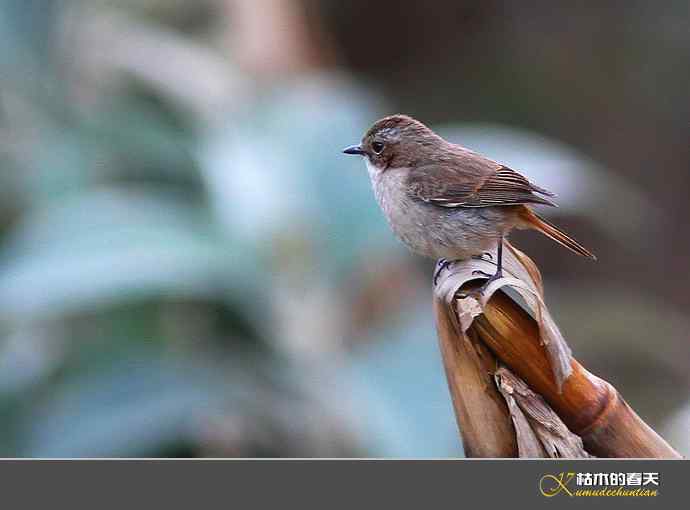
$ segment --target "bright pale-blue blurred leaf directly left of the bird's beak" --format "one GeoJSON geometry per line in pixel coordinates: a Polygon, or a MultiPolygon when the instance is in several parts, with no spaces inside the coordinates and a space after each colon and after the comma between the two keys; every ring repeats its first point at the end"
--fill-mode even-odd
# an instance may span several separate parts
{"type": "Polygon", "coordinates": [[[221,220],[264,247],[289,232],[310,249],[312,275],[349,274],[358,256],[395,240],[361,161],[344,146],[362,136],[374,107],[364,91],[318,79],[267,94],[212,133],[200,161],[221,220]]]}

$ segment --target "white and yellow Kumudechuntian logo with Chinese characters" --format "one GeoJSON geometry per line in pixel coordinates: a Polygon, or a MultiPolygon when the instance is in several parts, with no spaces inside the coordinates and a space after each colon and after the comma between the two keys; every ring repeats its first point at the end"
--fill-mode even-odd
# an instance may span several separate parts
{"type": "Polygon", "coordinates": [[[546,474],[539,479],[539,492],[546,498],[650,497],[658,494],[659,473],[546,474]]]}

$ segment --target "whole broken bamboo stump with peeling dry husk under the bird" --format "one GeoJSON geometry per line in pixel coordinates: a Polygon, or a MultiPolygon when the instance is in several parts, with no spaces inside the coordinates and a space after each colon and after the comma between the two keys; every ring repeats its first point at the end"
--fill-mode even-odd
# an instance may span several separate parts
{"type": "MultiPolygon", "coordinates": [[[[539,323],[523,306],[495,290],[500,281],[493,294],[487,292],[488,300],[458,297],[459,292],[478,287],[474,271],[486,271],[486,261],[459,263],[439,278],[434,289],[441,354],[467,456],[513,457],[518,453],[510,412],[496,386],[487,382],[498,360],[526,384],[525,394],[544,399],[550,408],[545,412],[555,412],[582,439],[590,455],[681,458],[611,384],[571,357],[543,303],[536,266],[507,246],[510,276],[502,285],[521,291],[539,323]]],[[[524,421],[520,423],[524,425],[524,421]]],[[[538,455],[542,449],[530,451],[538,455]]]]}

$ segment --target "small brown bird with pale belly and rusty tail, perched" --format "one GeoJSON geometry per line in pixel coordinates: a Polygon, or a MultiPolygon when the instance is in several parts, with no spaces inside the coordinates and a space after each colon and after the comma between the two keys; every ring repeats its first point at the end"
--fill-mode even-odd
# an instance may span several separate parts
{"type": "Polygon", "coordinates": [[[447,142],[406,115],[385,117],[359,145],[343,151],[364,156],[376,199],[393,232],[415,253],[449,261],[482,256],[498,244],[502,276],[503,238],[513,229],[534,229],[584,257],[596,257],[537,215],[532,204],[556,204],[554,194],[519,173],[447,142]]]}

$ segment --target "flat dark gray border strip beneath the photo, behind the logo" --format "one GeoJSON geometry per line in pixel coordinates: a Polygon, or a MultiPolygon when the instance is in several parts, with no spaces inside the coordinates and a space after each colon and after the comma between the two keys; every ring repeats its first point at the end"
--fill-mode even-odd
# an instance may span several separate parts
{"type": "MultiPolygon", "coordinates": [[[[5,508],[688,508],[688,461],[5,460],[5,508]],[[560,473],[659,473],[656,497],[545,497],[560,473]],[[220,505],[220,506],[219,506],[220,505]],[[450,505],[450,506],[449,506],[450,505]],[[477,506],[481,505],[481,506],[477,506]],[[507,506],[503,506],[507,505],[507,506]]],[[[576,488],[571,479],[568,487],[576,488]]],[[[596,488],[596,487],[594,487],[596,488]]]]}

